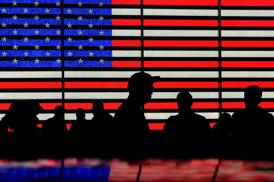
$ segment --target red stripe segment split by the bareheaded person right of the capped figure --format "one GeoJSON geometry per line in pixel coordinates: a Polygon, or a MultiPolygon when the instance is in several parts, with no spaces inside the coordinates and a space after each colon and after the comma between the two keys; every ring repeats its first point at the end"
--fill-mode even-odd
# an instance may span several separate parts
{"type": "MultiPolygon", "coordinates": [[[[178,109],[177,103],[146,103],[145,109],[178,109]]],[[[217,102],[193,103],[192,109],[219,109],[217,102]]]]}

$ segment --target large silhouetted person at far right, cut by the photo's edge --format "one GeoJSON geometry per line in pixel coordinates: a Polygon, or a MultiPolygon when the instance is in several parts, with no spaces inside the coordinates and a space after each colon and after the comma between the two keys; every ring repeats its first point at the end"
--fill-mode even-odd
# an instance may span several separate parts
{"type": "Polygon", "coordinates": [[[261,158],[273,155],[273,116],[262,110],[258,104],[262,89],[248,86],[244,90],[245,108],[231,117],[231,144],[233,157],[261,158]]]}

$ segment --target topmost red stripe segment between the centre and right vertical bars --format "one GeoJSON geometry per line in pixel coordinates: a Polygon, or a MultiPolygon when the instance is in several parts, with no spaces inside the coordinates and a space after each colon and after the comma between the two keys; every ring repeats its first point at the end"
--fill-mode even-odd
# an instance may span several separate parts
{"type": "MultiPolygon", "coordinates": [[[[144,0],[144,5],[217,6],[218,0],[144,0]]],[[[113,4],[113,3],[112,3],[113,4]]]]}

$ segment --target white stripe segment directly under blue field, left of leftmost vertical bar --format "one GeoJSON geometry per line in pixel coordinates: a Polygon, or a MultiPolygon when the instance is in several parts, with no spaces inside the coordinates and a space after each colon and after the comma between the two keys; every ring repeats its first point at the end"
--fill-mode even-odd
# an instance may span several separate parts
{"type": "Polygon", "coordinates": [[[61,71],[1,71],[0,78],[62,78],[61,71]]]}

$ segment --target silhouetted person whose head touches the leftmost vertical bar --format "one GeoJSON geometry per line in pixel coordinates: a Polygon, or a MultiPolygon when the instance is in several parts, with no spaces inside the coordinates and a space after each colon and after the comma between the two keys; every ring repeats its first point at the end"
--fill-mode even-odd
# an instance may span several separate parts
{"type": "Polygon", "coordinates": [[[64,113],[65,109],[63,106],[56,106],[54,108],[54,116],[42,124],[45,157],[65,156],[68,129],[63,120],[64,113]]]}

